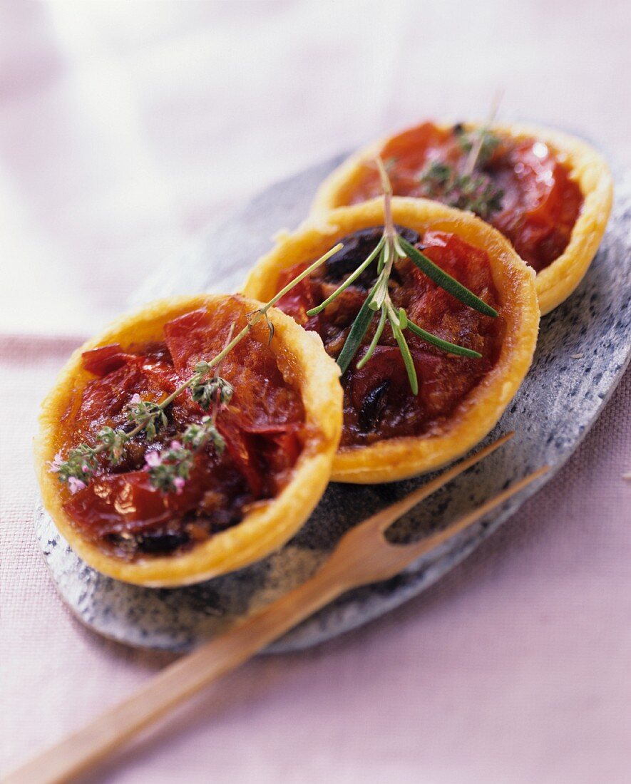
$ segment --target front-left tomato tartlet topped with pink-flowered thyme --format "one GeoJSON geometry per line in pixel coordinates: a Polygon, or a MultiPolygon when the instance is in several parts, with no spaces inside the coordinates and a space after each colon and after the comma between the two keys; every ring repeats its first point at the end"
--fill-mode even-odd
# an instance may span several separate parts
{"type": "Polygon", "coordinates": [[[320,499],[340,437],[339,368],[280,310],[254,323],[260,307],[241,296],[161,300],[114,322],[63,368],[42,405],[38,476],[45,509],[98,571],[145,586],[209,579],[276,550],[320,499]],[[203,386],[167,405],[245,325],[218,366],[230,397],[212,421],[203,386]],[[151,429],[125,435],[130,418],[149,421],[161,401],[151,429]],[[115,434],[127,439],[115,459],[89,452],[115,434]],[[80,455],[68,478],[63,460],[82,449],[85,464],[80,455]]]}

